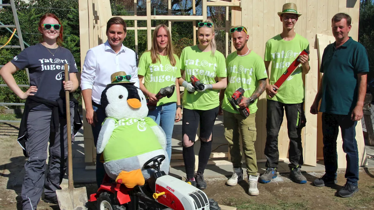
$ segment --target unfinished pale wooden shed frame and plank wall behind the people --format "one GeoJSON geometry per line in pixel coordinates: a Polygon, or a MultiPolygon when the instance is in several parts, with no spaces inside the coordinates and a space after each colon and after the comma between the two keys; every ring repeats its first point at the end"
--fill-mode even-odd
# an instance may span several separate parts
{"type": "MultiPolygon", "coordinates": [[[[310,113],[310,106],[313,103],[319,84],[319,58],[327,42],[318,43],[324,36],[331,36],[331,18],[338,12],[348,13],[352,17],[352,29],[350,36],[358,40],[359,1],[358,0],[202,0],[202,15],[196,15],[195,4],[193,3],[193,15],[174,16],[171,15],[171,0],[168,0],[168,15],[151,15],[151,0],[147,0],[147,15],[137,15],[137,0],[134,1],[134,16],[120,16],[126,21],[134,21],[134,27],[127,30],[135,31],[135,52],[138,52],[138,30],[147,30],[147,47],[151,47],[152,20],[168,20],[169,30],[173,21],[193,21],[193,31],[197,30],[196,20],[207,18],[208,6],[226,7],[226,24],[224,28],[216,30],[226,31],[226,47],[224,55],[229,54],[229,7],[231,7],[231,25],[243,25],[248,29],[248,46],[253,52],[264,56],[264,46],[269,38],[282,32],[282,23],[277,12],[282,9],[284,3],[293,2],[297,4],[298,12],[302,13],[295,26],[296,33],[307,38],[310,43],[310,72],[304,77],[306,87],[304,110],[307,124],[302,132],[304,164],[316,166],[316,161],[321,159],[322,152],[322,129],[321,115],[310,113]],[[147,21],[147,27],[138,27],[138,21],[147,21]],[[319,34],[319,35],[317,35],[319,34]],[[321,46],[319,46],[321,44],[321,46]]],[[[79,0],[79,22],[80,22],[80,46],[81,66],[85,60],[88,49],[95,47],[107,40],[105,35],[106,21],[112,17],[109,0],[79,0]],[[88,27],[87,27],[88,26],[88,27]],[[87,37],[86,39],[83,37],[87,37]]],[[[331,38],[331,37],[330,37],[331,38]]],[[[193,34],[193,42],[196,43],[196,33],[193,34]]],[[[232,46],[232,49],[234,47],[232,46]]],[[[321,55],[322,56],[322,55],[321,55]]],[[[140,55],[139,55],[140,57],[140,55]]],[[[258,161],[266,161],[264,147],[266,142],[266,95],[260,96],[257,102],[256,112],[257,140],[255,150],[258,161]]],[[[83,104],[83,116],[85,106],[83,104]]],[[[362,135],[361,121],[357,127],[358,148],[360,152],[360,166],[367,165],[364,139],[362,135]],[[361,129],[361,133],[359,132],[361,129]]],[[[85,139],[85,162],[89,165],[95,162],[95,148],[91,126],[84,120],[85,139]]],[[[280,161],[288,161],[289,138],[287,131],[286,117],[284,117],[279,132],[279,158],[280,161]]],[[[322,145],[323,146],[323,145],[322,145]]],[[[345,155],[341,149],[341,138],[338,139],[338,167],[345,168],[345,155]],[[340,148],[339,148],[340,146],[340,148]]],[[[228,152],[212,153],[210,164],[230,164],[228,152]],[[214,161],[214,158],[226,158],[226,160],[214,161]]]]}

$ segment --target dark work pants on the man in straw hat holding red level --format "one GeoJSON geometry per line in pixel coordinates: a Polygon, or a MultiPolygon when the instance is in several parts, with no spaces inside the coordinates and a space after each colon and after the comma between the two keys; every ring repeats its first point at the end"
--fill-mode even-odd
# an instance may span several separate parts
{"type": "Polygon", "coordinates": [[[289,137],[288,167],[301,168],[304,163],[303,147],[301,146],[301,129],[305,126],[304,103],[283,104],[267,99],[266,117],[266,167],[277,169],[279,163],[278,133],[283,121],[283,113],[286,112],[287,129],[289,137]],[[284,108],[284,109],[283,109],[284,108]]]}

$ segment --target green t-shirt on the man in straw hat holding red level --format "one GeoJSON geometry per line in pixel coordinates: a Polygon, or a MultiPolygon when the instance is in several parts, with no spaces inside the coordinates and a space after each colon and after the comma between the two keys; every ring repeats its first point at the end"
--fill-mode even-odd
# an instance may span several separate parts
{"type": "MultiPolygon", "coordinates": [[[[283,40],[279,34],[269,39],[266,42],[264,55],[264,61],[272,62],[269,83],[275,84],[304,49],[309,50],[309,42],[299,34],[296,34],[290,41],[283,40]]],[[[284,104],[300,104],[304,101],[304,93],[305,87],[300,64],[284,81],[278,93],[273,98],[266,95],[266,98],[284,104]]]]}

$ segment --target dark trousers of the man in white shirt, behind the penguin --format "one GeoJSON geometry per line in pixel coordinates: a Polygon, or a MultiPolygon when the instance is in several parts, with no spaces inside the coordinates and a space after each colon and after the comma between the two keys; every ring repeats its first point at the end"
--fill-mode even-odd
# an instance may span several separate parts
{"type": "MultiPolygon", "coordinates": [[[[93,142],[97,143],[97,139],[99,138],[99,133],[101,130],[101,124],[104,122],[104,119],[106,118],[105,110],[102,108],[102,106],[96,104],[95,102],[92,102],[92,105],[97,108],[96,110],[96,116],[98,122],[95,121],[95,126],[91,126],[92,128],[92,134],[93,134],[93,142]]],[[[98,187],[100,187],[102,180],[104,180],[105,176],[105,169],[104,169],[104,163],[100,162],[101,153],[96,153],[96,184],[98,187]]]]}

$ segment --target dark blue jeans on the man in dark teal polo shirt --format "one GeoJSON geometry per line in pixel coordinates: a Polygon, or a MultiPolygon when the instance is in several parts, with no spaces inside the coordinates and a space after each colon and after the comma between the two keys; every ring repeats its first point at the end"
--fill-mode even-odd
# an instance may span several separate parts
{"type": "Polygon", "coordinates": [[[322,113],[322,133],[324,135],[324,163],[328,177],[336,177],[338,158],[336,140],[339,127],[343,139],[343,151],[346,153],[347,169],[346,179],[351,185],[358,185],[358,148],[356,141],[356,124],[350,115],[322,113]]]}

